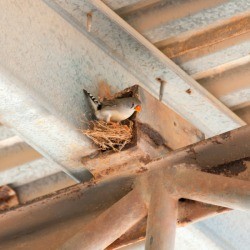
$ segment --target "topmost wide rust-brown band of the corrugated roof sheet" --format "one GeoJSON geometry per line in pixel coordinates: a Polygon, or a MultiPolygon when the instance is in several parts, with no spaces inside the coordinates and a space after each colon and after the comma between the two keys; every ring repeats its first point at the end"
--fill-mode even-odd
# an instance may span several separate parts
{"type": "MultiPolygon", "coordinates": [[[[143,1],[145,2],[145,1],[143,1]]],[[[160,32],[163,32],[166,35],[166,38],[172,35],[172,32],[169,30],[170,24],[174,24],[179,21],[182,24],[182,20],[189,17],[189,21],[192,21],[192,18],[195,14],[204,12],[204,10],[218,7],[218,5],[225,3],[225,0],[211,0],[211,1],[202,1],[202,0],[193,0],[193,1],[183,1],[183,0],[168,0],[168,1],[159,1],[157,5],[148,6],[145,9],[138,10],[136,12],[128,13],[125,15],[119,10],[115,10],[119,15],[122,14],[122,17],[137,31],[143,34],[148,38],[152,43],[157,41],[158,37],[161,37],[161,34],[155,32],[159,29],[160,32]],[[167,33],[166,30],[169,30],[167,33]],[[155,36],[152,35],[155,34],[155,36]]],[[[204,22],[208,22],[208,18],[204,15],[204,22]]],[[[181,26],[180,24],[180,26],[181,26]]],[[[202,24],[200,24],[202,25],[202,24]]],[[[184,23],[184,27],[188,24],[184,23]]],[[[181,27],[176,27],[177,31],[181,27]]],[[[175,31],[176,32],[176,31],[175,31]]]]}

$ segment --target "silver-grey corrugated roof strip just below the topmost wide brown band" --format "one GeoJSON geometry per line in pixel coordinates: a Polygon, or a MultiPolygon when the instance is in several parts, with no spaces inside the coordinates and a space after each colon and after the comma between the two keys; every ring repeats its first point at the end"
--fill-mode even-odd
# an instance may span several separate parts
{"type": "MultiPolygon", "coordinates": [[[[175,3],[176,1],[173,2],[175,3]]],[[[165,5],[168,4],[169,1],[165,3],[165,5]]],[[[193,5],[193,2],[191,2],[191,4],[193,5]]],[[[209,26],[223,19],[226,20],[233,18],[235,15],[239,15],[250,10],[250,4],[245,0],[221,1],[221,3],[219,3],[219,1],[209,1],[209,3],[204,3],[204,1],[202,1],[200,5],[210,5],[210,8],[203,8],[197,12],[194,11],[193,13],[191,13],[191,15],[187,11],[189,8],[187,8],[186,10],[183,10],[186,15],[180,16],[182,13],[178,13],[181,18],[173,18],[173,20],[168,20],[166,19],[167,17],[163,17],[167,21],[161,23],[160,25],[150,27],[151,23],[147,22],[149,23],[148,28],[145,27],[146,25],[144,25],[145,28],[143,30],[140,29],[140,27],[135,28],[152,43],[156,43],[171,37],[178,36],[184,32],[198,30],[201,27],[209,26]]],[[[163,7],[164,5],[160,5],[159,9],[163,7]]],[[[178,7],[180,8],[180,6],[178,7]]],[[[199,6],[192,6],[192,8],[199,8],[199,6]]],[[[154,11],[153,8],[152,11],[154,11]]],[[[166,8],[166,11],[168,11],[168,8],[166,8]]],[[[150,12],[150,10],[148,12],[150,12]]],[[[140,17],[142,17],[143,14],[140,17]]],[[[173,14],[170,13],[170,16],[171,15],[173,14]]],[[[126,18],[126,21],[128,23],[131,23],[131,25],[133,26],[133,16],[128,16],[128,18],[126,18]]]]}

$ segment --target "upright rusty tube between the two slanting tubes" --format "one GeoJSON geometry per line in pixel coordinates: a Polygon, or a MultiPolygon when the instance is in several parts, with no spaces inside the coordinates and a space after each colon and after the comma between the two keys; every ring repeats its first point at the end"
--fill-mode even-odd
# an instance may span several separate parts
{"type": "Polygon", "coordinates": [[[178,199],[171,197],[163,185],[163,173],[152,176],[148,211],[146,250],[174,249],[178,199]]]}

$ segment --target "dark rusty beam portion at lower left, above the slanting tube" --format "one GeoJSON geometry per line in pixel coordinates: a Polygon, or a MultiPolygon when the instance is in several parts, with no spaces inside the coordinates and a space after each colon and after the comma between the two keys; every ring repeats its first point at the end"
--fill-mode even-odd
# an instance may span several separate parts
{"type": "Polygon", "coordinates": [[[132,185],[131,178],[77,184],[2,213],[0,249],[34,249],[48,242],[57,249],[129,193],[132,185]]]}

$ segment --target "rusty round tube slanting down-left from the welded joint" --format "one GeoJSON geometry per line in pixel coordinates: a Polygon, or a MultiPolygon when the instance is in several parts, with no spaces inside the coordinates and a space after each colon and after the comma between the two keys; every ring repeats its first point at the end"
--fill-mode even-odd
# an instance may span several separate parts
{"type": "Polygon", "coordinates": [[[141,194],[134,189],[69,239],[63,250],[102,250],[147,215],[141,194]]]}

